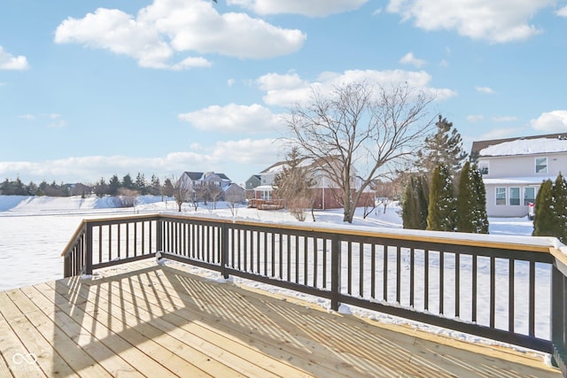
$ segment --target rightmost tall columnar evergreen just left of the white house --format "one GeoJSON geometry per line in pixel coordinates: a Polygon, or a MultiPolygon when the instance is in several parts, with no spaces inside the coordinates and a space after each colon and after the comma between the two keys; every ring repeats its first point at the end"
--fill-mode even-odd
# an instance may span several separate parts
{"type": "Polygon", "coordinates": [[[488,233],[486,216],[486,192],[482,174],[476,166],[466,162],[459,180],[456,200],[456,229],[474,234],[488,233]]]}

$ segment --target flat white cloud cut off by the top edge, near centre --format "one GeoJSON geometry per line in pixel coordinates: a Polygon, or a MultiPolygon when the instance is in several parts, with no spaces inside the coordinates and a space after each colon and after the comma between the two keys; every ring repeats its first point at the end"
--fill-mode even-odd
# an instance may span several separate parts
{"type": "Polygon", "coordinates": [[[325,17],[334,13],[354,11],[368,0],[227,0],[252,12],[268,14],[301,14],[308,17],[325,17]]]}

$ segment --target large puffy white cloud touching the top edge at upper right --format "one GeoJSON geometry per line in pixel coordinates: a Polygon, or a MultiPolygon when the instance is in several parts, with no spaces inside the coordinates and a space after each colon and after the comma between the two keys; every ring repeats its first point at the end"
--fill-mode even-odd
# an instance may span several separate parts
{"type": "Polygon", "coordinates": [[[386,10],[425,30],[456,30],[472,39],[510,42],[539,34],[530,19],[554,4],[555,0],[390,0],[386,10]]]}

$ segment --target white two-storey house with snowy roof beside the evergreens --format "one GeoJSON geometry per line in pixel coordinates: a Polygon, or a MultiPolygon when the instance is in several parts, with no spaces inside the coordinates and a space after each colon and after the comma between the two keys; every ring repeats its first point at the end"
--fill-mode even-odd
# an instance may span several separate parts
{"type": "Polygon", "coordinates": [[[534,135],[472,143],[486,189],[489,217],[524,217],[542,181],[567,172],[567,134],[534,135]]]}

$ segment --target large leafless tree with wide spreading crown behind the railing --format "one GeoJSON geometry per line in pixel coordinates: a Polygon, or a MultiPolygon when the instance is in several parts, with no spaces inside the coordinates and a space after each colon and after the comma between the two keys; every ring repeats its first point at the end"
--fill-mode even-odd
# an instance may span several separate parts
{"type": "Polygon", "coordinates": [[[437,114],[427,113],[433,97],[407,84],[384,89],[351,82],[328,95],[314,89],[310,103],[291,108],[285,123],[292,143],[321,162],[320,169],[337,185],[343,220],[352,223],[365,189],[392,165],[416,155],[437,114]],[[357,174],[360,184],[355,185],[357,174]]]}

